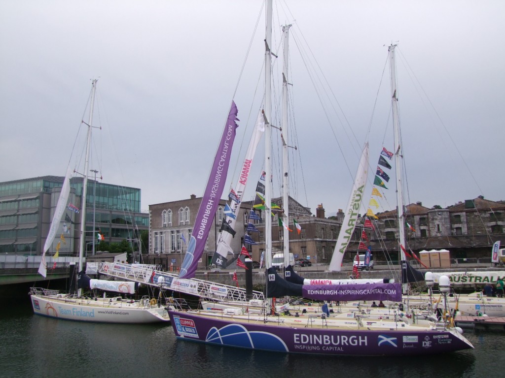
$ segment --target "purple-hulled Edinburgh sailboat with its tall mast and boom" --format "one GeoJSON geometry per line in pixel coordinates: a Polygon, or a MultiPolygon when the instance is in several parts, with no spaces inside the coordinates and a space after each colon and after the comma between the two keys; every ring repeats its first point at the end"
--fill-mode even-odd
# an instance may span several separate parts
{"type": "MultiPolygon", "coordinates": [[[[355,285],[305,285],[280,277],[272,268],[271,204],[271,96],[270,59],[272,3],[266,6],[265,38],[265,261],[267,297],[303,296],[314,300],[392,300],[401,299],[399,283],[355,285]]],[[[286,75],[286,73],[284,73],[286,75]]],[[[287,76],[285,76],[287,78],[287,76]]],[[[187,256],[186,256],[187,257],[187,256]]],[[[198,258],[191,256],[190,259],[198,258]]],[[[186,258],[185,258],[186,260],[186,258]]],[[[240,347],[284,353],[321,355],[423,355],[473,348],[461,330],[446,324],[417,327],[403,322],[362,322],[332,318],[324,313],[292,314],[275,311],[270,302],[262,314],[224,311],[169,309],[174,333],[179,340],[219,346],[240,347]]]]}

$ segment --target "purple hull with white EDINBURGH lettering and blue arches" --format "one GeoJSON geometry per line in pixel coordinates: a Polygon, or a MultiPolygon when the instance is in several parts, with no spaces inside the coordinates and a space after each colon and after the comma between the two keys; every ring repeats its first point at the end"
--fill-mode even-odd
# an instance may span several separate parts
{"type": "Polygon", "coordinates": [[[424,355],[472,349],[456,331],[345,330],[239,321],[169,310],[178,339],[284,353],[322,355],[424,355]]]}

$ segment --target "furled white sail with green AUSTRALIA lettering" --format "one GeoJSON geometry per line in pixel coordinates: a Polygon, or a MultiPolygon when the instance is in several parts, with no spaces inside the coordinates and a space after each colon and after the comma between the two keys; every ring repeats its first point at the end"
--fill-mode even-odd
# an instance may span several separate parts
{"type": "Polygon", "coordinates": [[[358,214],[360,211],[361,202],[363,201],[363,192],[365,191],[367,173],[368,142],[365,143],[365,147],[363,148],[363,153],[361,155],[360,164],[358,165],[358,171],[356,172],[354,185],[352,186],[352,192],[349,198],[349,202],[347,203],[342,228],[338,234],[337,243],[335,244],[333,256],[328,268],[328,270],[331,272],[340,272],[345,249],[347,248],[347,244],[349,243],[349,240],[352,236],[352,232],[354,232],[356,223],[358,222],[358,214]]]}

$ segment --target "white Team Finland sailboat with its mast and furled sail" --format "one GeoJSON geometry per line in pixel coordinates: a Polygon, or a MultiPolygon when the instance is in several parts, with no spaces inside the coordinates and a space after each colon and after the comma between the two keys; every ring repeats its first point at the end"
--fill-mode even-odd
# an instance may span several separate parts
{"type": "MultiPolygon", "coordinates": [[[[92,81],[91,101],[89,110],[89,119],[82,123],[87,125],[86,138],[86,158],[84,167],[84,179],[82,184],[81,197],[81,226],[79,237],[79,283],[82,287],[102,289],[110,292],[122,294],[134,294],[137,284],[129,281],[108,281],[89,279],[84,272],[84,243],[85,243],[85,223],[86,223],[86,189],[87,172],[89,171],[89,154],[91,147],[91,131],[93,120],[93,106],[96,92],[96,80],[92,81]]],[[[45,255],[54,242],[58,230],[62,227],[62,216],[67,208],[68,197],[70,193],[70,179],[73,170],[70,164],[62,185],[62,190],[55,209],[47,239],[44,243],[42,259],[39,267],[39,274],[46,277],[47,266],[45,255]]],[[[63,237],[62,237],[63,240],[63,237]]],[[[58,248],[57,248],[58,253],[58,248]]],[[[71,267],[72,268],[72,267],[71,267]]],[[[75,280],[75,269],[71,269],[71,281],[75,280]]],[[[82,295],[82,288],[77,293],[60,293],[58,290],[45,289],[41,287],[32,287],[30,289],[31,303],[33,312],[37,315],[73,320],[83,322],[102,322],[102,323],[159,323],[168,322],[168,313],[164,307],[158,306],[158,300],[145,296],[141,300],[125,300],[120,295],[115,297],[88,297],[82,295]]]]}

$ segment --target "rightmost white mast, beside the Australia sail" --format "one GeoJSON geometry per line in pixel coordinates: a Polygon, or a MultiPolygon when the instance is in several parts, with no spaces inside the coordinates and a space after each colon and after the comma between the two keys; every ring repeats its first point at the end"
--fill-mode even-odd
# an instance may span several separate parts
{"type": "MultiPolygon", "coordinates": [[[[400,122],[398,117],[398,89],[396,87],[396,65],[394,60],[394,48],[396,45],[389,46],[389,67],[391,71],[391,106],[393,109],[393,129],[394,129],[394,168],[396,175],[396,206],[397,206],[397,222],[398,222],[398,252],[400,261],[407,260],[403,248],[407,248],[405,244],[405,208],[403,206],[403,184],[402,184],[402,164],[400,144],[400,122]]],[[[408,289],[408,284],[401,284],[401,290],[405,294],[408,289]]]]}

